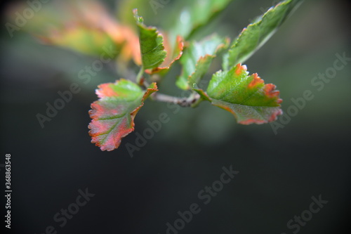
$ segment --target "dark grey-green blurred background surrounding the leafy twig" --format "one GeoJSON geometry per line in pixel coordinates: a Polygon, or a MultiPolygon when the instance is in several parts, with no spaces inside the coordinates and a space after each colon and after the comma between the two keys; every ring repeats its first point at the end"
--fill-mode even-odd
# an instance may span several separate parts
{"type": "MultiPolygon", "coordinates": [[[[13,2],[13,1],[11,1],[13,2]]],[[[114,1],[102,1],[112,14],[114,1]]],[[[1,1],[2,16],[9,1],[1,1]]],[[[173,11],[171,1],[154,15],[143,9],[148,25],[161,25],[173,11]]],[[[147,6],[149,8],[147,8],[147,6]]],[[[233,1],[203,34],[236,37],[249,19],[272,6],[272,0],[233,1]]],[[[117,10],[116,10],[117,9],[117,10]]],[[[93,13],[92,13],[93,14],[93,13]]],[[[118,18],[118,15],[117,15],[118,18]]],[[[304,1],[272,39],[248,61],[266,83],[276,84],[286,112],[291,98],[305,90],[314,99],[274,134],[270,124],[242,126],[229,112],[201,103],[194,110],[167,108],[147,101],[135,119],[135,132],[147,120],[166,112],[170,122],[131,158],[126,143],[102,152],[90,143],[88,110],[95,89],[118,79],[114,64],[105,65],[92,82],[77,78],[95,58],[43,46],[22,30],[10,38],[1,25],[1,160],[11,153],[12,223],[8,233],[166,233],[166,223],[179,219],[197,203],[201,212],[179,233],[293,233],[286,224],[310,208],[311,197],[329,202],[296,233],[344,233],[350,217],[351,63],[337,72],[322,91],[313,77],[333,66],[336,53],[351,57],[350,4],[304,1]],[[37,113],[53,103],[58,91],[77,82],[81,92],[41,128],[37,113]],[[222,167],[239,171],[209,204],[198,193],[220,179],[222,167]],[[78,190],[95,194],[62,228],[53,216],[76,201],[78,190]]],[[[195,38],[202,37],[199,33],[195,38]]],[[[220,60],[212,65],[216,72],[220,60]]],[[[176,71],[164,82],[171,92],[176,71]],[[173,75],[172,75],[173,74],[173,75]]],[[[180,95],[181,92],[178,91],[180,95]]],[[[278,120],[279,122],[280,120],[278,120]]],[[[4,168],[0,168],[1,189],[4,168]]],[[[4,189],[2,189],[4,191],[4,189]]],[[[4,194],[4,192],[1,194],[4,194]]],[[[4,195],[1,196],[4,217],[4,195]]],[[[4,218],[2,218],[4,219],[4,218]]],[[[4,228],[1,221],[1,228],[4,228]]],[[[8,230],[7,230],[8,231],[8,230]]]]}

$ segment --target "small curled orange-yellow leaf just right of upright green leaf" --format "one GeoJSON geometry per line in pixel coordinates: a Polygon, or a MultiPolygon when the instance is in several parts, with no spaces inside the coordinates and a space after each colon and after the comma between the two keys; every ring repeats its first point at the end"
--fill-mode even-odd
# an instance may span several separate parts
{"type": "MultiPolygon", "coordinates": [[[[168,44],[165,43],[165,47],[166,45],[168,44]]],[[[160,74],[160,75],[166,74],[168,70],[171,69],[171,66],[173,65],[173,63],[176,62],[176,60],[179,60],[179,58],[183,55],[183,49],[184,49],[183,37],[178,36],[176,41],[176,46],[173,49],[173,51],[171,51],[171,48],[166,47],[167,56],[166,56],[166,59],[164,60],[164,63],[162,63],[159,67],[154,67],[154,69],[152,70],[150,69],[145,70],[145,72],[147,72],[148,74],[160,74]]]]}

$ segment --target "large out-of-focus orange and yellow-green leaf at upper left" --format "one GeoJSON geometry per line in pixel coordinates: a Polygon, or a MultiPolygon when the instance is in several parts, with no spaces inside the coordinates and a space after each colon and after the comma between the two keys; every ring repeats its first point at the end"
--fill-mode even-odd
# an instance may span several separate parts
{"type": "MultiPolygon", "coordinates": [[[[27,4],[20,4],[8,15],[13,17],[16,11],[23,12],[27,7],[27,4]]],[[[92,56],[101,56],[108,48],[109,51],[118,51],[119,60],[124,63],[131,58],[138,65],[141,63],[137,34],[130,27],[114,20],[99,1],[52,1],[43,4],[35,17],[27,20],[21,29],[33,34],[44,44],[92,56]]],[[[114,53],[114,56],[117,55],[114,53]]]]}

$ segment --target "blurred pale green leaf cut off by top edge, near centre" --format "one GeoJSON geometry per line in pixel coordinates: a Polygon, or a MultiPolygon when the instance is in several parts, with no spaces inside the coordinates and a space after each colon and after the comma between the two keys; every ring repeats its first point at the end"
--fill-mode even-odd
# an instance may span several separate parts
{"type": "MultiPolygon", "coordinates": [[[[223,11],[223,9],[232,0],[192,0],[186,1],[187,6],[181,8],[176,17],[172,17],[171,27],[169,30],[170,37],[175,39],[178,35],[189,39],[190,34],[197,28],[206,25],[214,15],[223,11]]],[[[185,4],[185,1],[177,1],[179,4],[185,4]]],[[[177,8],[177,6],[173,6],[177,8]]]]}

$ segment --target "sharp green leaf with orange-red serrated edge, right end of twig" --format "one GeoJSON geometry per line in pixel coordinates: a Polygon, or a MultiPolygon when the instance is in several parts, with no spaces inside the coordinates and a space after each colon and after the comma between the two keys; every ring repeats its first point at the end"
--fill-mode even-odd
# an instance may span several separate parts
{"type": "Polygon", "coordinates": [[[264,84],[256,73],[249,75],[245,65],[213,74],[206,93],[201,89],[194,91],[203,100],[231,112],[239,124],[263,124],[282,115],[282,99],[274,84],[264,84]]]}

